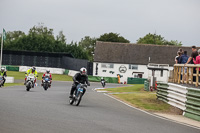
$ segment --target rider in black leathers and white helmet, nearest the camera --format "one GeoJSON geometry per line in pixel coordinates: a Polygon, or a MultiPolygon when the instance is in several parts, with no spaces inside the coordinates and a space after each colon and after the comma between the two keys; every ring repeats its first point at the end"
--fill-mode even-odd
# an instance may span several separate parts
{"type": "MultiPolygon", "coordinates": [[[[82,67],[80,69],[80,72],[74,75],[73,81],[74,81],[74,83],[72,84],[69,98],[73,97],[73,93],[76,90],[76,87],[79,83],[81,83],[81,84],[86,83],[88,86],[90,86],[90,83],[88,81],[88,76],[87,76],[87,69],[82,67]]],[[[85,93],[85,91],[86,90],[84,90],[83,94],[85,93]]]]}

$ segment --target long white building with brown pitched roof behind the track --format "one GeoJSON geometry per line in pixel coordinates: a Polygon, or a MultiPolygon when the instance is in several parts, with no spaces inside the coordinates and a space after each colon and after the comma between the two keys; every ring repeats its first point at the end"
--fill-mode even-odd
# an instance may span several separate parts
{"type": "MultiPolygon", "coordinates": [[[[179,48],[186,50],[190,56],[191,47],[97,41],[93,75],[117,77],[117,74],[120,74],[124,81],[128,77],[148,78],[147,65],[149,63],[167,64],[169,70],[173,70],[179,48]]],[[[161,79],[165,73],[158,75],[161,79]]]]}

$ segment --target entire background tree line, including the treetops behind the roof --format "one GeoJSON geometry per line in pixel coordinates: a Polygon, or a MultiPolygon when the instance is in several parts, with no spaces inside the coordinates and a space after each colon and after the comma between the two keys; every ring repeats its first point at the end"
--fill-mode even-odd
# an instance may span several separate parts
{"type": "MultiPolygon", "coordinates": [[[[123,36],[112,32],[105,33],[99,38],[85,36],[80,42],[72,41],[67,43],[63,31],[60,31],[57,36],[54,36],[53,29],[38,25],[33,26],[28,34],[22,31],[8,31],[6,33],[3,49],[15,51],[63,52],[70,53],[75,58],[92,61],[96,41],[130,43],[130,41],[123,36]]],[[[181,42],[177,40],[167,41],[161,35],[151,33],[139,38],[137,44],[182,45],[181,42]]]]}

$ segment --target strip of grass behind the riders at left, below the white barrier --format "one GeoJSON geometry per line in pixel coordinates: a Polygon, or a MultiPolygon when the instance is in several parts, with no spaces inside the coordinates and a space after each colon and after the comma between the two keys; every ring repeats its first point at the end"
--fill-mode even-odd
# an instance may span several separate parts
{"type": "MultiPolygon", "coordinates": [[[[9,77],[14,77],[14,79],[23,79],[25,78],[25,72],[16,72],[16,71],[7,71],[9,77]]],[[[38,73],[38,80],[42,79],[43,73],[38,73]]],[[[72,81],[72,77],[62,74],[52,74],[53,81],[72,81]]]]}

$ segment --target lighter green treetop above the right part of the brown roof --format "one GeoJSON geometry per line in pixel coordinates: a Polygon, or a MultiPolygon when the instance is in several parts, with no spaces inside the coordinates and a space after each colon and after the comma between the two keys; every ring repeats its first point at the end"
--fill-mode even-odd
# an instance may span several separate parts
{"type": "Polygon", "coordinates": [[[146,36],[139,38],[137,44],[156,44],[156,45],[176,45],[181,46],[181,42],[176,41],[167,41],[161,35],[156,34],[147,34],[146,36]]]}

